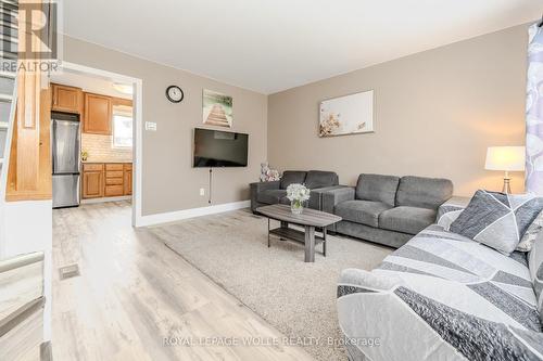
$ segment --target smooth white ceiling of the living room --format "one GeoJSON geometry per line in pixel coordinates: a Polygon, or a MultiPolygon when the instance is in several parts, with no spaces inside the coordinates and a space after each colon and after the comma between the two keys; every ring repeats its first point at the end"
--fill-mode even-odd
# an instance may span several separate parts
{"type": "Polygon", "coordinates": [[[263,93],[527,23],[543,0],[66,0],[68,36],[263,93]]]}

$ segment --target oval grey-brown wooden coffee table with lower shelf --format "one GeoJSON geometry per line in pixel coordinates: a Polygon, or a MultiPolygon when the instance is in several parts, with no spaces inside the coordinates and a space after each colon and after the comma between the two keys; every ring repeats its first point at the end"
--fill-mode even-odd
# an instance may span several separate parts
{"type": "Polygon", "coordinates": [[[323,255],[326,257],[326,228],[341,220],[339,216],[310,208],[304,208],[301,215],[294,215],[290,211],[290,206],[282,204],[258,207],[256,211],[268,218],[268,247],[270,234],[303,243],[306,262],[315,261],[315,245],[319,243],[323,243],[323,255]],[[270,219],[280,221],[281,225],[270,230],[270,219]],[[301,225],[304,232],[289,228],[289,224],[301,225]],[[316,228],[321,231],[323,235],[315,234],[316,228]]]}

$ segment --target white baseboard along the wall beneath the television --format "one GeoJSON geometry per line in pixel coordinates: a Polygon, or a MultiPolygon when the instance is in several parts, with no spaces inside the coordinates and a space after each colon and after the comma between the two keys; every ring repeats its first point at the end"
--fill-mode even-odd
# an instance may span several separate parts
{"type": "Polygon", "coordinates": [[[216,206],[191,208],[176,211],[168,211],[157,215],[142,216],[138,219],[136,227],[148,227],[161,223],[175,222],[181,219],[222,214],[224,211],[249,208],[251,201],[240,201],[232,203],[218,204],[216,206]]]}

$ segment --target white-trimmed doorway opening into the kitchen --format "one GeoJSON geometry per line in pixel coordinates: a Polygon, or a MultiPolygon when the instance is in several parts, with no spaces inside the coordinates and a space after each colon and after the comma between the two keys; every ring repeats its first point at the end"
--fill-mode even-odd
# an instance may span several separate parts
{"type": "MultiPolygon", "coordinates": [[[[62,72],[53,74],[50,80],[56,117],[71,111],[64,108],[74,96],[70,90],[81,91],[81,95],[77,95],[81,102],[78,204],[130,202],[131,224],[138,227],[141,219],[141,79],[64,62],[62,72]]],[[[54,159],[53,147],[53,164],[54,159]]],[[[55,191],[60,195],[66,190],[61,188],[62,182],[58,184],[53,186],[53,198],[55,191]]],[[[73,205],[77,204],[73,202],[73,205]]]]}

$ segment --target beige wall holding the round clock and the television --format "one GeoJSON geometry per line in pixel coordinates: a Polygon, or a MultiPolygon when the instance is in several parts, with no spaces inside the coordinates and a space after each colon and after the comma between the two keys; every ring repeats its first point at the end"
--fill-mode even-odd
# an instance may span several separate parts
{"type": "MultiPolygon", "coordinates": [[[[213,204],[249,199],[249,182],[258,179],[266,159],[266,95],[159,65],[85,41],[64,38],[64,60],[143,80],[143,121],[155,121],[156,132],[143,130],[142,212],[153,215],[207,206],[207,169],[192,168],[192,129],[202,125],[202,90],[233,96],[233,128],[249,133],[249,166],[214,170],[213,204]],[[179,104],[164,92],[178,85],[179,104]]],[[[220,60],[217,59],[217,62],[220,60]]]]}

